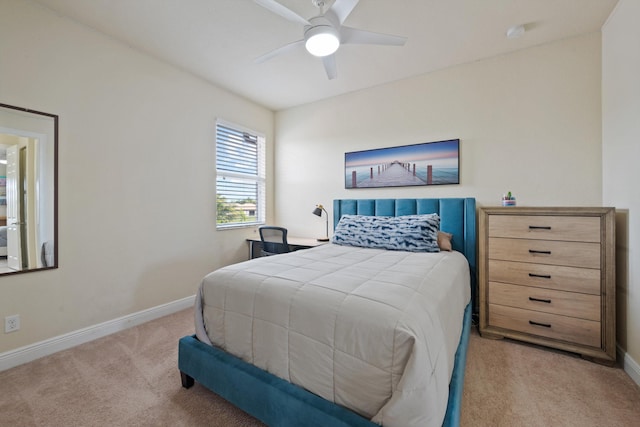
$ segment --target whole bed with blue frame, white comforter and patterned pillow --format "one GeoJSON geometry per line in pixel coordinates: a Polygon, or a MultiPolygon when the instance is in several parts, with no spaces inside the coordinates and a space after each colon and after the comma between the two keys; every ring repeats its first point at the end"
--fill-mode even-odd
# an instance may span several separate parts
{"type": "Polygon", "coordinates": [[[182,385],[198,381],[270,426],[458,425],[475,200],[335,200],[333,213],[332,243],[203,279],[196,334],[179,341],[182,385]],[[453,251],[345,244],[361,224],[425,221],[453,251]]]}

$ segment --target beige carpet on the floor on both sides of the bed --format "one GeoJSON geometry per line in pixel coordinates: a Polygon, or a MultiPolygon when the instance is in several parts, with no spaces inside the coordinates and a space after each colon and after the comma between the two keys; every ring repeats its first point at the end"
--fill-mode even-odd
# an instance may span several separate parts
{"type": "MultiPolygon", "coordinates": [[[[183,389],[185,310],[0,372],[0,426],[262,426],[202,386],[183,389]]],[[[469,344],[463,426],[638,426],[619,368],[513,341],[469,344]]]]}

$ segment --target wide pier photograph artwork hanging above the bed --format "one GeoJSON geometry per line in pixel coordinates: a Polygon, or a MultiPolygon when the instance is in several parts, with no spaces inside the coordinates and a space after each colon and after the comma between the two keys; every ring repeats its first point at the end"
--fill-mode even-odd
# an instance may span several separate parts
{"type": "Polygon", "coordinates": [[[345,188],[460,183],[460,140],[353,151],[344,155],[345,188]]]}

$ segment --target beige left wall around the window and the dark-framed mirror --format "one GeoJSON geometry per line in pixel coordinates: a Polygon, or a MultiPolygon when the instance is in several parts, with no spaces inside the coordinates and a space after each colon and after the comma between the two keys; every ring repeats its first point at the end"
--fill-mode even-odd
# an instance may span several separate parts
{"type": "Polygon", "coordinates": [[[246,259],[252,230],[215,230],[215,119],[272,141],[271,111],[14,0],[0,102],[60,117],[60,268],[0,277],[0,319],[21,316],[0,353],[193,295],[246,259]]]}

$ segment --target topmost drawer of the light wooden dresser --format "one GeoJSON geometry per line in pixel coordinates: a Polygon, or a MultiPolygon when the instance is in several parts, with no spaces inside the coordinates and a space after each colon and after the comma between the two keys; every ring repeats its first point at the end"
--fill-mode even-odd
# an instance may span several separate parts
{"type": "Polygon", "coordinates": [[[489,237],[600,242],[600,218],[588,216],[493,215],[489,237]]]}

